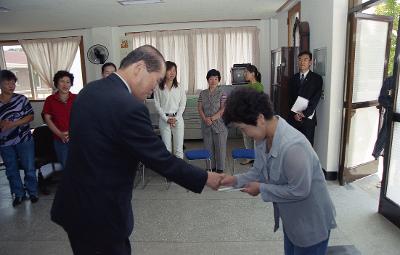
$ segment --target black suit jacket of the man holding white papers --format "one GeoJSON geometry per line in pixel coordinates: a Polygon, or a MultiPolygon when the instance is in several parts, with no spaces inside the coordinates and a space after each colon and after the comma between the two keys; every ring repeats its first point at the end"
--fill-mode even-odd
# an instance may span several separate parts
{"type": "MultiPolygon", "coordinates": [[[[308,107],[303,111],[306,118],[311,116],[317,108],[319,99],[322,93],[322,77],[319,74],[308,72],[304,78],[303,84],[300,84],[300,73],[296,73],[289,80],[289,110],[292,108],[298,96],[306,98],[308,100],[308,107]]],[[[293,119],[294,113],[291,111],[289,118],[293,119]]],[[[314,114],[313,120],[316,121],[316,114],[314,114]]]]}

